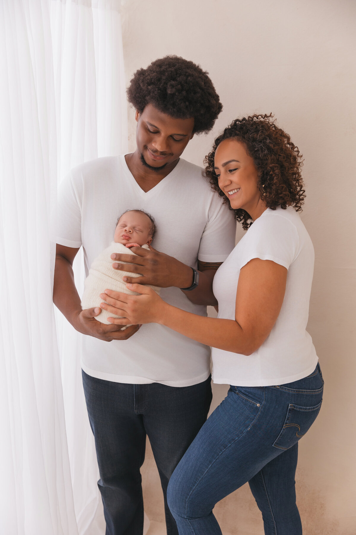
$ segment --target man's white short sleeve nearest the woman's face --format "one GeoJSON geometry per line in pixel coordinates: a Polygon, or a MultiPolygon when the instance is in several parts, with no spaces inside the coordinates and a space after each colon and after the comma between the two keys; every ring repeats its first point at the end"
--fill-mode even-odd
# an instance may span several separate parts
{"type": "Polygon", "coordinates": [[[198,259],[201,262],[224,262],[235,247],[235,235],[235,213],[215,195],[200,240],[198,259]]]}

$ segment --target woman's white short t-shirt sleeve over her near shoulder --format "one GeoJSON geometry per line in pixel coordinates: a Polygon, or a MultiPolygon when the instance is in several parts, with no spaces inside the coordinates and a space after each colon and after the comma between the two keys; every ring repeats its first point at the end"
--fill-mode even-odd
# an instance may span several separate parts
{"type": "Polygon", "coordinates": [[[272,260],[287,270],[299,250],[296,227],[285,217],[272,213],[260,217],[239,242],[239,268],[252,258],[272,260]]]}

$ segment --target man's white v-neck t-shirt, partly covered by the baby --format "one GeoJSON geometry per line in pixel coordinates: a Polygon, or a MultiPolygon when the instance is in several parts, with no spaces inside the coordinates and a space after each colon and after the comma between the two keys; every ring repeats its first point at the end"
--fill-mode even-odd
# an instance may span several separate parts
{"type": "MultiPolygon", "coordinates": [[[[197,268],[202,262],[224,262],[235,244],[234,212],[211,191],[201,167],[179,160],[148,192],[139,187],[125,157],[98,158],[82,164],[61,182],[58,194],[57,243],[83,246],[85,273],[113,241],[116,220],[129,209],[155,218],[152,246],[197,268]]],[[[162,288],[164,301],[206,316],[179,288],[162,288]]],[[[162,383],[190,386],[210,375],[210,348],[168,327],[145,324],[128,340],[105,342],[82,335],[83,370],[117,383],[162,383]]]]}

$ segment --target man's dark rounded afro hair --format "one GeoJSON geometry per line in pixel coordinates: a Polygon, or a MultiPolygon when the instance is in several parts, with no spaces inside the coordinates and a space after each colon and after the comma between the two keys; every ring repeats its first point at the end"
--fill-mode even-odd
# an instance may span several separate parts
{"type": "Polygon", "coordinates": [[[142,113],[147,104],[175,119],[194,117],[194,133],[207,133],[223,105],[208,73],[178,56],[156,59],[133,75],[129,102],[142,113]]]}

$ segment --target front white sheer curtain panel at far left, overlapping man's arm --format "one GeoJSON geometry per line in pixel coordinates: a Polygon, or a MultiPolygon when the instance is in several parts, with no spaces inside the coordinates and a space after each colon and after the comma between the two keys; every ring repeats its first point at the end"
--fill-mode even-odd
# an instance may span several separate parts
{"type": "Polygon", "coordinates": [[[0,532],[76,535],[51,304],[57,144],[49,5],[0,3],[0,532]]]}

